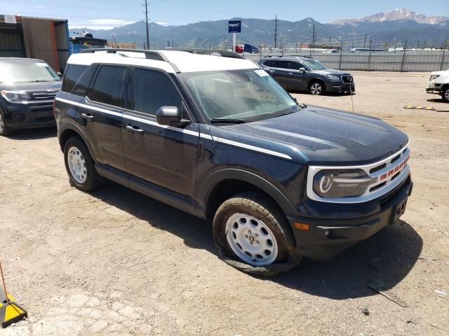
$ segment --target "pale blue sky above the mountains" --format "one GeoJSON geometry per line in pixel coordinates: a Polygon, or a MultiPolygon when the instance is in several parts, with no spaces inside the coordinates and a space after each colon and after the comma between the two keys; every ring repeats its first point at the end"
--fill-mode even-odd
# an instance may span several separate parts
{"type": "MultiPolygon", "coordinates": [[[[1,14],[64,18],[70,27],[111,29],[144,18],[145,0],[0,0],[1,14]]],[[[330,22],[338,18],[360,18],[395,8],[425,15],[449,16],[449,0],[149,0],[149,17],[163,25],[241,18],[297,21],[314,18],[330,22]],[[279,4],[279,6],[273,6],[279,4]]]]}

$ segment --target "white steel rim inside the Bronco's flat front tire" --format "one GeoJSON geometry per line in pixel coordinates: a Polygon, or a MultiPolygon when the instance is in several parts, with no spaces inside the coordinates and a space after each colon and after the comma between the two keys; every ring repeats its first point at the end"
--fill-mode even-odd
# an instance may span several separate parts
{"type": "Polygon", "coordinates": [[[278,244],[272,230],[260,219],[234,214],[226,222],[226,238],[236,255],[249,265],[269,265],[278,256],[278,244]]]}

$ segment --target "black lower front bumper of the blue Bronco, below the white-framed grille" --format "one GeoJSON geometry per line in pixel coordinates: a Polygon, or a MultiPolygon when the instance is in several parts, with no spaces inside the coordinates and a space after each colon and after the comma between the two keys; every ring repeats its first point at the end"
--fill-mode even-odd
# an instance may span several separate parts
{"type": "MultiPolygon", "coordinates": [[[[413,182],[408,176],[395,190],[391,190],[389,194],[376,200],[377,211],[368,216],[288,218],[295,235],[297,250],[305,257],[314,260],[329,260],[335,257],[344,248],[366,239],[386,225],[392,224],[396,206],[406,202],[412,188],[413,182]],[[303,230],[295,228],[295,223],[301,223],[300,226],[303,230]],[[308,230],[304,230],[304,228],[308,228],[308,230]],[[326,232],[328,232],[327,235],[326,232]]],[[[354,204],[354,207],[360,206],[360,204],[354,204]]]]}

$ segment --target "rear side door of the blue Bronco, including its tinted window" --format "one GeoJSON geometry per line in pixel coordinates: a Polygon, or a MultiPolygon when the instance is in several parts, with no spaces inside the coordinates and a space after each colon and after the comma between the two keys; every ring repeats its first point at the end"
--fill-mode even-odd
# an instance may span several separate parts
{"type": "Polygon", "coordinates": [[[102,165],[125,170],[121,141],[123,92],[128,76],[125,66],[99,67],[87,97],[79,105],[82,123],[95,159],[102,165]]]}

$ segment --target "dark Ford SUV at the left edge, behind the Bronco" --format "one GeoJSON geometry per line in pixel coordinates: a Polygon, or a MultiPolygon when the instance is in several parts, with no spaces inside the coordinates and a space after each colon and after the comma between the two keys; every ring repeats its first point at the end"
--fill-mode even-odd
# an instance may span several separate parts
{"type": "Polygon", "coordinates": [[[61,78],[41,59],[0,57],[0,135],[55,125],[61,78]]]}

